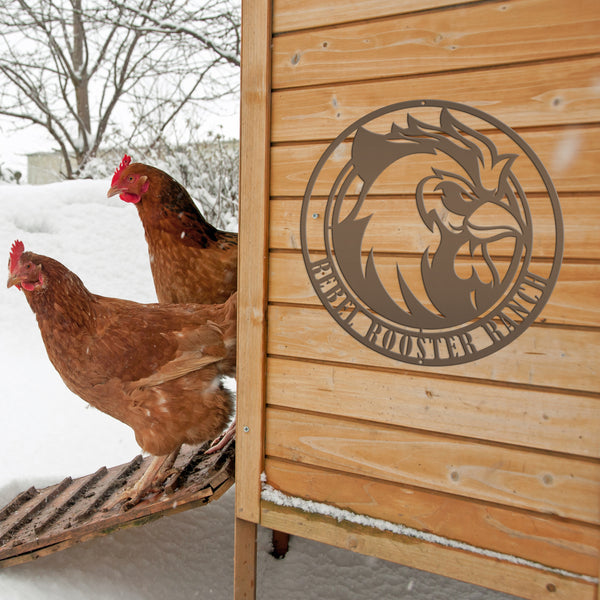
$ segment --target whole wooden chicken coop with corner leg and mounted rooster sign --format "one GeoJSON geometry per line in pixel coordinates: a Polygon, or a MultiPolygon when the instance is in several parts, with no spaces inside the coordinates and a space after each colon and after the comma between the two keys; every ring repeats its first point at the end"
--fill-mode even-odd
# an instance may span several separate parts
{"type": "Polygon", "coordinates": [[[600,3],[242,7],[235,597],[260,524],[598,598],[600,3]]]}

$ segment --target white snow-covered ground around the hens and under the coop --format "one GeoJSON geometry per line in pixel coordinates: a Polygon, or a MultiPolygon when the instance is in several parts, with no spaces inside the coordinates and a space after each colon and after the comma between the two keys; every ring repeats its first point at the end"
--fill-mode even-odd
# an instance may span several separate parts
{"type": "MultiPolygon", "coordinates": [[[[109,182],[0,185],[0,255],[20,239],[75,271],[93,292],[154,302],[137,211],[106,198],[109,182]]],[[[6,263],[5,263],[6,264],[6,263]]],[[[67,390],[46,357],[35,317],[0,286],[0,506],[130,460],[132,431],[67,390]]],[[[119,531],[0,571],[0,600],[225,600],[233,595],[234,491],[205,508],[119,531]]],[[[277,561],[260,530],[260,600],[506,600],[497,592],[292,538],[277,561]]]]}

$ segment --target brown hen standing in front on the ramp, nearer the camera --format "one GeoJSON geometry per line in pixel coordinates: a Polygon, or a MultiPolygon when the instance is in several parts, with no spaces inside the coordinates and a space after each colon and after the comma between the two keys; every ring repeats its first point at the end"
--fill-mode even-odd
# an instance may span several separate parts
{"type": "Polygon", "coordinates": [[[50,361],[67,387],[129,425],[154,455],[122,500],[131,506],[164,483],[182,444],[213,440],[233,401],[236,303],[140,304],[91,293],[58,261],[15,241],[7,287],[25,293],[50,361]]]}

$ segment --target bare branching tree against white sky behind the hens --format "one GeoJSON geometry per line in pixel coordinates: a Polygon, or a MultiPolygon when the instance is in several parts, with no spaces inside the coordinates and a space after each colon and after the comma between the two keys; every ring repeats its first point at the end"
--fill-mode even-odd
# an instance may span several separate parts
{"type": "Polygon", "coordinates": [[[72,178],[110,138],[185,138],[237,90],[239,0],[0,0],[0,115],[46,129],[72,178]]]}

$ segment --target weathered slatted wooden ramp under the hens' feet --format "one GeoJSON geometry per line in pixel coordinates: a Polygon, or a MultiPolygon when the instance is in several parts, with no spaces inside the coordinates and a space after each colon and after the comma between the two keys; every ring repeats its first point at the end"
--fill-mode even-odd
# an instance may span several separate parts
{"type": "Polygon", "coordinates": [[[235,440],[215,454],[204,454],[206,448],[180,453],[175,466],[181,474],[173,493],[156,494],[128,511],[104,507],[139,479],[152,457],[139,455],[123,465],[22,492],[0,510],[0,568],[220,498],[234,481],[235,440]]]}

